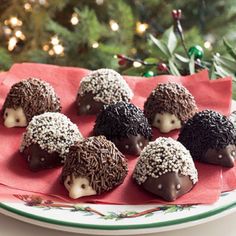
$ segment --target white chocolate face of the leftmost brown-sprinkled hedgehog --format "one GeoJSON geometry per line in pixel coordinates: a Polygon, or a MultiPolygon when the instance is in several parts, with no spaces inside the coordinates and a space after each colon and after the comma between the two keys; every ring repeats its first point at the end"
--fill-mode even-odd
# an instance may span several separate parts
{"type": "Polygon", "coordinates": [[[27,120],[24,111],[21,107],[18,107],[17,109],[6,108],[4,111],[3,118],[4,125],[7,128],[27,126],[27,120]]]}

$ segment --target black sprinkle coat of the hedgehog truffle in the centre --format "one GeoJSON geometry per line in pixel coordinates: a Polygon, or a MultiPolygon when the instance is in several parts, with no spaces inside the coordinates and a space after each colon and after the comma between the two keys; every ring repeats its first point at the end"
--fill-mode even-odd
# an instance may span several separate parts
{"type": "Polygon", "coordinates": [[[124,138],[138,134],[151,140],[152,129],[143,112],[131,103],[118,102],[98,114],[94,126],[95,135],[105,135],[107,139],[124,138]]]}

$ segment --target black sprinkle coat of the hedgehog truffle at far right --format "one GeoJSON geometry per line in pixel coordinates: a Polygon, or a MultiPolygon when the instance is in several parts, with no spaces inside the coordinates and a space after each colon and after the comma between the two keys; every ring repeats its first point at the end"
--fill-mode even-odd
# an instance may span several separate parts
{"type": "Polygon", "coordinates": [[[180,130],[178,141],[194,159],[201,160],[209,148],[223,149],[236,144],[233,123],[216,111],[204,110],[196,113],[180,130]]]}

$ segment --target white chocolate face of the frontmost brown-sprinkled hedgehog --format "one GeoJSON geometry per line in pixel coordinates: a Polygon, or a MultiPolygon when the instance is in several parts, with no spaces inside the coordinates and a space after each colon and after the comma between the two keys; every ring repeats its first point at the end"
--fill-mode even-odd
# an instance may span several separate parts
{"type": "Polygon", "coordinates": [[[73,174],[66,177],[64,186],[69,192],[69,197],[72,199],[97,194],[96,191],[89,185],[87,178],[75,177],[73,174]]]}

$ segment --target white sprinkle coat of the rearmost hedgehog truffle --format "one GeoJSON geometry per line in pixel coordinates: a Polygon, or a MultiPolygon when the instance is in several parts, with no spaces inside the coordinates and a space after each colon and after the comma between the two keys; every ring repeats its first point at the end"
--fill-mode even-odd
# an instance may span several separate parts
{"type": "Polygon", "coordinates": [[[123,77],[111,69],[99,69],[85,76],[81,82],[78,94],[83,96],[92,93],[97,102],[111,104],[115,102],[129,102],[133,92],[123,77]]]}

